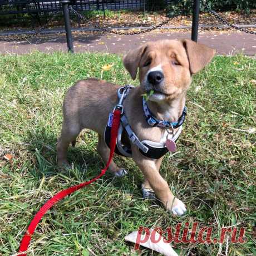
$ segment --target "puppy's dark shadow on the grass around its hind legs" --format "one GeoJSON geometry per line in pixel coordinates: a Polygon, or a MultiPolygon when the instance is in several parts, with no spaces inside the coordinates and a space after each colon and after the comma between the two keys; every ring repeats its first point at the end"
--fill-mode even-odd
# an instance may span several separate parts
{"type": "MultiPolygon", "coordinates": [[[[45,131],[35,133],[29,131],[24,141],[27,144],[27,150],[31,156],[31,162],[33,168],[29,168],[31,175],[35,179],[40,180],[42,176],[55,176],[61,175],[68,178],[75,178],[78,182],[84,182],[90,180],[99,175],[101,169],[105,167],[104,161],[97,153],[94,147],[95,145],[80,145],[76,144],[75,147],[68,148],[67,160],[70,163],[71,168],[59,168],[57,166],[57,137],[53,134],[47,134],[45,131]]],[[[116,159],[117,165],[126,168],[126,164],[122,159],[116,159]]],[[[125,178],[114,178],[114,176],[107,171],[104,175],[104,180],[109,180],[107,183],[112,182],[112,186],[126,190],[127,186],[131,184],[131,176],[136,176],[136,184],[138,188],[141,186],[141,179],[138,172],[130,172],[125,178]],[[128,183],[126,185],[125,183],[128,183]]],[[[135,177],[134,177],[135,178],[135,177]]]]}

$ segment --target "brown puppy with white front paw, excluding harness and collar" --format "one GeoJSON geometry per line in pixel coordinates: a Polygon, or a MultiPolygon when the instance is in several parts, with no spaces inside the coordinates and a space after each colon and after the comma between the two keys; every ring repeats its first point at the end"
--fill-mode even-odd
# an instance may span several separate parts
{"type": "MultiPolygon", "coordinates": [[[[124,66],[132,79],[139,68],[140,86],[133,88],[124,101],[124,112],[132,130],[140,140],[159,142],[165,129],[147,124],[142,108],[142,94],[154,90],[147,101],[152,114],[159,120],[176,121],[185,106],[186,91],[191,76],[200,71],[213,58],[215,50],[190,40],[163,40],[149,42],[124,57],[124,66]],[[153,76],[157,71],[160,76],[153,76]]],[[[88,79],[78,81],[67,92],[63,102],[63,124],[57,145],[58,165],[67,164],[68,145],[75,142],[82,129],[91,129],[99,134],[97,150],[106,162],[109,147],[104,141],[104,130],[109,113],[117,104],[119,86],[105,81],[88,79]]],[[[131,144],[132,158],[144,174],[142,188],[154,190],[166,209],[174,214],[183,214],[185,205],[171,193],[168,184],[159,173],[163,157],[152,160],[142,155],[131,144]]],[[[110,171],[116,176],[126,173],[111,162],[110,171]]]]}

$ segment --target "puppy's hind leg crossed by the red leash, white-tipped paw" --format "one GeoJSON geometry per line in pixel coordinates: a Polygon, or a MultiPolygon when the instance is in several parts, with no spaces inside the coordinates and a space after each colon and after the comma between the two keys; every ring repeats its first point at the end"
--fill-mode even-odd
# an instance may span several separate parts
{"type": "MultiPolygon", "coordinates": [[[[97,151],[101,155],[104,162],[107,163],[107,160],[109,160],[110,149],[105,144],[105,141],[101,135],[99,135],[97,151]]],[[[117,167],[113,160],[110,163],[109,169],[117,177],[122,177],[127,174],[127,171],[125,169],[121,169],[121,168],[117,167]]]]}

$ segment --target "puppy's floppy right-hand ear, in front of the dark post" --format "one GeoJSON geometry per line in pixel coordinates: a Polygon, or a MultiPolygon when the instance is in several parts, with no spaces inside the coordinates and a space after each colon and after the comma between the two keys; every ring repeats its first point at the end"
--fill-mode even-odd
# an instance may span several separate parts
{"type": "Polygon", "coordinates": [[[192,74],[202,70],[215,55],[215,50],[200,43],[185,39],[183,45],[189,59],[190,72],[192,74]]]}

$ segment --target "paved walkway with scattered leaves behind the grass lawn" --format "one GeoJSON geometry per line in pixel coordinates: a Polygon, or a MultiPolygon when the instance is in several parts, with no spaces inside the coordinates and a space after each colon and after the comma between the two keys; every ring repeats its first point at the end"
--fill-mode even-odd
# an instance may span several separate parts
{"type": "MultiPolygon", "coordinates": [[[[124,53],[147,41],[190,38],[190,32],[150,32],[144,35],[118,36],[114,34],[73,33],[75,52],[124,53]]],[[[244,32],[199,32],[198,42],[215,48],[219,55],[243,52],[256,54],[256,36],[244,32]]],[[[0,53],[23,54],[33,50],[42,52],[67,51],[65,35],[49,35],[18,42],[0,41],[0,53]]]]}

